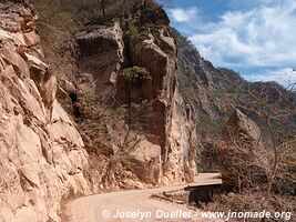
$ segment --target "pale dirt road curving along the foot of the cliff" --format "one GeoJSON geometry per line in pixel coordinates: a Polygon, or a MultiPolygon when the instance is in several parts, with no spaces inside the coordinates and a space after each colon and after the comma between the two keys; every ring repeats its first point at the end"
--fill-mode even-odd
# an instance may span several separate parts
{"type": "MultiPolygon", "coordinates": [[[[217,174],[203,173],[191,185],[217,184],[217,174]]],[[[201,212],[185,205],[151,199],[151,194],[182,189],[184,185],[149,190],[122,191],[80,198],[68,205],[71,222],[134,222],[134,221],[213,221],[202,219],[201,212]]]]}

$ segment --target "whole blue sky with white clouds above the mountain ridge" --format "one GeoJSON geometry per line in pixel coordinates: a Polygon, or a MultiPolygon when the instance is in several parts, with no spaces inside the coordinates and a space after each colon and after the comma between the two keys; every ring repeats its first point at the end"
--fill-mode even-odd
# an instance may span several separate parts
{"type": "Polygon", "coordinates": [[[173,0],[172,26],[249,81],[296,82],[296,0],[173,0]]]}

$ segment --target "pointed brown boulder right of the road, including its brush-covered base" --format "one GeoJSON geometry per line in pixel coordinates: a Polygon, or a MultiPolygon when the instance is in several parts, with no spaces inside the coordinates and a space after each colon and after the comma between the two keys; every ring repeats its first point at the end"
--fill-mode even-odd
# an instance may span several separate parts
{"type": "Polygon", "coordinates": [[[261,137],[259,127],[236,109],[223,129],[223,141],[217,143],[220,171],[226,189],[258,188],[266,181],[269,154],[261,137]]]}

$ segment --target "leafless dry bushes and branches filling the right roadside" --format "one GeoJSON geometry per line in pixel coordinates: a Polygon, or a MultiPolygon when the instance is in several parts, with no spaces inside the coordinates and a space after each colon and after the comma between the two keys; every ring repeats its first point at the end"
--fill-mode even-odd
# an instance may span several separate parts
{"type": "Polygon", "coordinates": [[[218,144],[224,182],[233,192],[217,196],[208,208],[295,213],[296,138],[287,127],[295,121],[295,101],[277,84],[238,89],[245,93],[233,101],[261,123],[264,133],[257,142],[242,134],[218,144]]]}

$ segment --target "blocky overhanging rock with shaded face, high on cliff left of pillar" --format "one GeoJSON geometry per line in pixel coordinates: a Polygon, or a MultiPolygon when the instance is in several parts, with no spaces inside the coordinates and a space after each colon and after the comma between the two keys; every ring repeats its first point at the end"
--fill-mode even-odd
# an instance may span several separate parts
{"type": "Polygon", "coordinates": [[[90,27],[76,33],[75,39],[80,47],[80,71],[92,73],[100,100],[114,97],[110,84],[115,83],[121,64],[124,62],[123,33],[119,21],[111,27],[90,27]],[[96,73],[93,73],[94,70],[96,73]]]}

